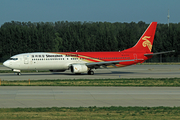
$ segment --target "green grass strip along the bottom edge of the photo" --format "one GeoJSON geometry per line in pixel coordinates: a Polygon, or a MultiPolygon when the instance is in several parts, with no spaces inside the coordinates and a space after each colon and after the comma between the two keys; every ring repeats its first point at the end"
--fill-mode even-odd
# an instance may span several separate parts
{"type": "Polygon", "coordinates": [[[180,107],[0,108],[0,119],[159,120],[180,119],[180,107]]]}

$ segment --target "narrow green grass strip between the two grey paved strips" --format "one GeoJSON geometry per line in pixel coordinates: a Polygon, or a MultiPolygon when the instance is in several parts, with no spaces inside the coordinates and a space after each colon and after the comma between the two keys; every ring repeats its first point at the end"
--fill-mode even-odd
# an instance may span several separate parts
{"type": "Polygon", "coordinates": [[[14,80],[3,81],[2,86],[171,86],[179,87],[180,78],[135,79],[71,79],[71,80],[14,80]]]}

